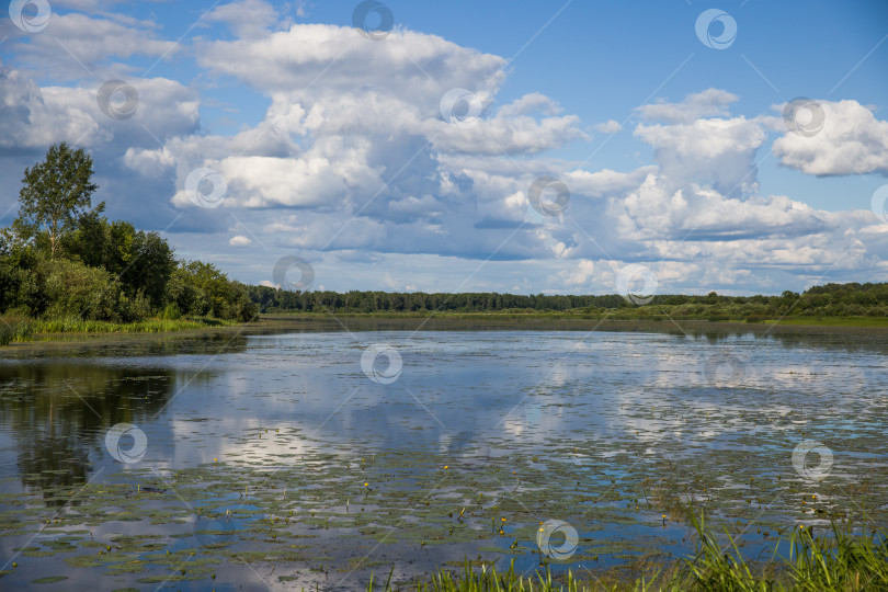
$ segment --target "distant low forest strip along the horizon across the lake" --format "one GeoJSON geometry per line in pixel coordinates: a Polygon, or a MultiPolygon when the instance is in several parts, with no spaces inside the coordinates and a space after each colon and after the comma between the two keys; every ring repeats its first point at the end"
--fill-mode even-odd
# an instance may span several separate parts
{"type": "Polygon", "coordinates": [[[287,292],[248,286],[260,312],[565,312],[621,316],[670,315],[686,318],[755,320],[783,316],[888,317],[888,284],[827,284],[804,294],[779,296],[657,295],[644,305],[617,294],[604,296],[516,295],[498,293],[425,294],[423,292],[287,292]]]}

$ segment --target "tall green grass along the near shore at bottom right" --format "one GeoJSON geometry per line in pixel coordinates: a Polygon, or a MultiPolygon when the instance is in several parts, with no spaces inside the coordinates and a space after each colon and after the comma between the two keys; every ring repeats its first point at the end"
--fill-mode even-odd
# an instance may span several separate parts
{"type": "MultiPolygon", "coordinates": [[[[568,572],[554,577],[549,567],[532,576],[515,572],[514,561],[498,572],[494,567],[476,571],[469,562],[458,573],[440,570],[428,581],[408,587],[391,585],[390,579],[378,585],[371,579],[368,592],[396,589],[421,592],[580,592],[580,591],[804,591],[851,592],[888,590],[888,539],[884,533],[852,535],[835,523],[832,536],[815,536],[806,530],[794,531],[775,542],[765,560],[745,559],[730,537],[719,538],[701,517],[694,523],[697,550],[693,557],[663,563],[648,561],[636,571],[568,572]],[[777,549],[788,548],[788,556],[777,549]]],[[[390,578],[390,574],[389,574],[390,578]]]]}

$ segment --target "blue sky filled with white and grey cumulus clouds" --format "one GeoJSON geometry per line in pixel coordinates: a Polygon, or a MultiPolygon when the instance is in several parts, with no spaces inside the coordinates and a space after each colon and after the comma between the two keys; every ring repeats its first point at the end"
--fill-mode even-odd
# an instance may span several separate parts
{"type": "Polygon", "coordinates": [[[0,225],[68,141],[250,284],[888,281],[881,0],[13,0],[0,39],[0,225]]]}

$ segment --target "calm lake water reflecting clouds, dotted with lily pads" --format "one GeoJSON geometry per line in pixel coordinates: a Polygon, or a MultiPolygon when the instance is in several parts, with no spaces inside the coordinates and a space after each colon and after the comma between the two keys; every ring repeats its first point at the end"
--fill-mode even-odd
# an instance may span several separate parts
{"type": "Polygon", "coordinates": [[[361,589],[467,559],[588,576],[693,551],[688,506],[750,555],[831,519],[885,528],[885,333],[764,333],[307,331],[4,360],[0,588],[361,589]]]}

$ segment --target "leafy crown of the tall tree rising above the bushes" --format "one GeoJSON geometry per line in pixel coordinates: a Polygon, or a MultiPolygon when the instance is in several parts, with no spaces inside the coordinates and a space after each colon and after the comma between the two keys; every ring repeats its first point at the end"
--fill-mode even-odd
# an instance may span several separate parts
{"type": "Polygon", "coordinates": [[[92,182],[92,157],[67,143],[53,145],[43,162],[25,169],[22,183],[15,225],[26,239],[45,232],[49,254],[55,257],[59,240],[77,227],[98,189],[92,182]]]}

